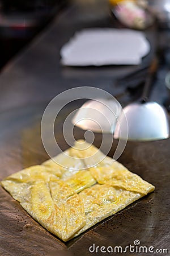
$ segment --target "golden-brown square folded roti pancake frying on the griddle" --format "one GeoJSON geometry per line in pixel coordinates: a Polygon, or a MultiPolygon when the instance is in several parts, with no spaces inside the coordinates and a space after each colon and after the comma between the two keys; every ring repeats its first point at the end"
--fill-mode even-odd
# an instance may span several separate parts
{"type": "Polygon", "coordinates": [[[50,159],[1,181],[36,221],[63,241],[155,189],[95,146],[80,142],[56,156],[57,163],[50,159]]]}

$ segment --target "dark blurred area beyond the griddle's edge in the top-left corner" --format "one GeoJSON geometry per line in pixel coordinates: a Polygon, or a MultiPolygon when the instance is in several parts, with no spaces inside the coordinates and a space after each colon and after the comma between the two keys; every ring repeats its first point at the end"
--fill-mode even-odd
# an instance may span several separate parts
{"type": "Polygon", "coordinates": [[[67,0],[0,0],[0,72],[67,5],[67,0]]]}

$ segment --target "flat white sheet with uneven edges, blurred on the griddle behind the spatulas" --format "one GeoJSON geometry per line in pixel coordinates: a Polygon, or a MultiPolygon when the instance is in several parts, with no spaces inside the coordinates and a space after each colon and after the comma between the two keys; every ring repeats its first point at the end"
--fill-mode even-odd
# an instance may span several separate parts
{"type": "Polygon", "coordinates": [[[86,28],[61,48],[61,63],[69,66],[138,65],[150,51],[140,31],[86,28]]]}

